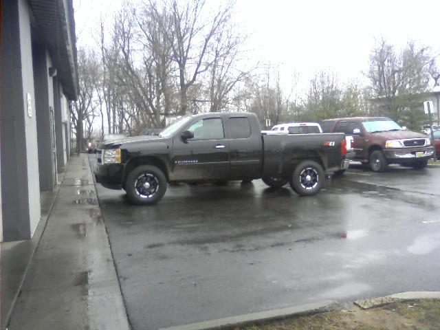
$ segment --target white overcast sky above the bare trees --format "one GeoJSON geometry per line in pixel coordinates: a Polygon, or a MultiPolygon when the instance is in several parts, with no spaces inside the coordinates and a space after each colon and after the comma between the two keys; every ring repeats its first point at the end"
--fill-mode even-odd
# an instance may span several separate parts
{"type": "MultiPolygon", "coordinates": [[[[78,47],[93,43],[94,22],[121,2],[74,0],[78,47]]],[[[279,65],[285,80],[296,71],[304,86],[319,69],[342,82],[361,78],[381,36],[397,47],[412,39],[440,54],[440,0],[236,0],[236,21],[252,33],[251,60],[279,65]]]]}

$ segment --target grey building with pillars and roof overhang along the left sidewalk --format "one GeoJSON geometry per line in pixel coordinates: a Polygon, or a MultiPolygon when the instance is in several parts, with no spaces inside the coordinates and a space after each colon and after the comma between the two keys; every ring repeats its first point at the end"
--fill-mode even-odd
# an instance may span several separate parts
{"type": "Polygon", "coordinates": [[[32,238],[65,170],[77,72],[72,0],[1,1],[1,241],[32,238]]]}

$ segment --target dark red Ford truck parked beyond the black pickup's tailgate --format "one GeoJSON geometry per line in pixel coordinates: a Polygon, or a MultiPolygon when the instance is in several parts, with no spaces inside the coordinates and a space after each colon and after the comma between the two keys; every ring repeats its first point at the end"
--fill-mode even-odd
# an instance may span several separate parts
{"type": "Polygon", "coordinates": [[[355,117],[324,120],[324,133],[353,136],[353,151],[347,158],[369,164],[382,172],[388,164],[401,164],[416,170],[425,168],[433,148],[426,135],[407,131],[386,117],[355,117]]]}

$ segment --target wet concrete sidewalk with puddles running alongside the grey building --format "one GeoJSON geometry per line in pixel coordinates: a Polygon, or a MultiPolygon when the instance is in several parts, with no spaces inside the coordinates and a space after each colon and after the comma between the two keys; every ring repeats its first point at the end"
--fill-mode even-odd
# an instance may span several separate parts
{"type": "Polygon", "coordinates": [[[1,329],[130,329],[87,154],[42,209],[31,241],[1,243],[1,329]]]}

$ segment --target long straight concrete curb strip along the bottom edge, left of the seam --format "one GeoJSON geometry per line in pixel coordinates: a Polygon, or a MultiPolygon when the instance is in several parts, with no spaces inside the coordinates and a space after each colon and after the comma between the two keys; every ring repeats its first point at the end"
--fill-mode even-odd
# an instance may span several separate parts
{"type": "Polygon", "coordinates": [[[318,314],[323,311],[329,311],[336,307],[336,301],[325,300],[318,303],[287,307],[283,309],[272,309],[270,311],[261,311],[259,313],[243,314],[232,316],[230,318],[219,318],[205,322],[192,323],[190,325],[179,325],[176,327],[162,328],[159,330],[214,330],[214,329],[235,329],[255,325],[272,320],[280,320],[291,316],[318,314]]]}

